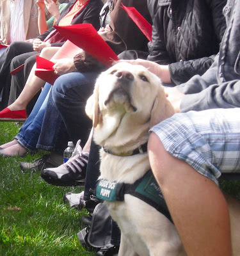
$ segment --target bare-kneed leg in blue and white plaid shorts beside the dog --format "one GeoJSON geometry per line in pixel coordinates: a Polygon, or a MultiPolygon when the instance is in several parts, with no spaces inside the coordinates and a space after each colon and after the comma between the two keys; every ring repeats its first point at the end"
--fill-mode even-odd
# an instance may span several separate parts
{"type": "Polygon", "coordinates": [[[187,255],[231,255],[229,213],[216,178],[240,170],[240,111],[226,110],[177,114],[153,127],[148,141],[152,171],[187,255]]]}

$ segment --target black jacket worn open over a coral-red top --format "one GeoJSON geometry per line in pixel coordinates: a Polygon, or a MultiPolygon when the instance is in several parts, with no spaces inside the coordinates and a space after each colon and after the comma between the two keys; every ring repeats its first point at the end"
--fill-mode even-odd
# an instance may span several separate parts
{"type": "MultiPolygon", "coordinates": [[[[76,3],[76,0],[69,0],[68,5],[65,7],[63,12],[61,13],[59,19],[56,22],[56,26],[58,26],[59,22],[63,17],[70,11],[72,6],[76,3]]],[[[74,19],[72,19],[71,24],[82,24],[82,23],[91,23],[96,30],[100,28],[100,20],[99,20],[99,13],[102,9],[102,1],[101,0],[90,0],[89,3],[84,7],[84,9],[76,15],[74,19]]],[[[49,28],[45,31],[42,35],[38,36],[40,40],[44,41],[44,39],[51,33],[54,28],[49,28]]],[[[51,46],[61,46],[63,43],[59,44],[51,44],[51,46]]]]}

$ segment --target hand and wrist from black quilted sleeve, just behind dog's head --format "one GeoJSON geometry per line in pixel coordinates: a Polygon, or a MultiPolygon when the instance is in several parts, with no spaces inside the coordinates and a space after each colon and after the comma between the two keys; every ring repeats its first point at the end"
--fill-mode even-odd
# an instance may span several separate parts
{"type": "Polygon", "coordinates": [[[132,65],[142,65],[143,67],[147,68],[150,72],[154,73],[156,76],[158,76],[163,83],[171,83],[170,78],[170,72],[168,69],[168,65],[159,65],[155,63],[154,61],[148,61],[148,60],[119,60],[114,61],[113,64],[116,64],[118,62],[127,62],[132,65]]]}

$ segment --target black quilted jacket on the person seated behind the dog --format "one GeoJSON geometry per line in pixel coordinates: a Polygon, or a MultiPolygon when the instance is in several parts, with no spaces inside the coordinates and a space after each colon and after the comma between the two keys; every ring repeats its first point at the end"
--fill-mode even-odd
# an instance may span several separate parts
{"type": "Polygon", "coordinates": [[[169,65],[172,83],[202,75],[226,28],[223,7],[227,0],[148,0],[152,15],[152,44],[148,60],[169,65]]]}

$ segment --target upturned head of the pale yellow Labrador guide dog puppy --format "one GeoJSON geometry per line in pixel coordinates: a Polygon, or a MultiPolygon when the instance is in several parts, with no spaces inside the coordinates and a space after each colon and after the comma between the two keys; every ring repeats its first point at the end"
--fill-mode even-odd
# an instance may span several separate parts
{"type": "Polygon", "coordinates": [[[95,141],[105,147],[147,140],[148,129],[173,112],[160,79],[141,65],[123,62],[100,74],[86,104],[95,141]]]}

